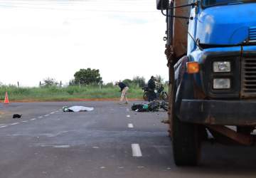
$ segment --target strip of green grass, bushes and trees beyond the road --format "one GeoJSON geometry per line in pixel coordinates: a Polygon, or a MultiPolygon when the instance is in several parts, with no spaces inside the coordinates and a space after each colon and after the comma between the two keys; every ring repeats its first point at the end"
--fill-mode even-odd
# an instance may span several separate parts
{"type": "MultiPolygon", "coordinates": [[[[162,83],[161,76],[156,76],[162,83]]],[[[132,80],[122,81],[128,87],[128,98],[142,99],[142,88],[146,85],[145,78],[136,76],[132,80]]],[[[165,87],[167,88],[167,87],[165,87]]],[[[80,69],[67,85],[58,83],[54,78],[45,78],[38,87],[28,88],[18,85],[3,85],[0,83],[0,100],[3,101],[5,93],[11,101],[62,101],[62,100],[97,100],[118,99],[120,89],[114,83],[104,84],[100,70],[80,69]]]]}

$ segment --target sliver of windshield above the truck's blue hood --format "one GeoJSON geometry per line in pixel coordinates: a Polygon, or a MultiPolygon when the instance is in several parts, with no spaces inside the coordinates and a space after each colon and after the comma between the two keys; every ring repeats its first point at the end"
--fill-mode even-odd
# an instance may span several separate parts
{"type": "Polygon", "coordinates": [[[207,6],[220,6],[225,4],[243,4],[249,2],[256,2],[256,0],[203,0],[202,5],[207,6]]]}

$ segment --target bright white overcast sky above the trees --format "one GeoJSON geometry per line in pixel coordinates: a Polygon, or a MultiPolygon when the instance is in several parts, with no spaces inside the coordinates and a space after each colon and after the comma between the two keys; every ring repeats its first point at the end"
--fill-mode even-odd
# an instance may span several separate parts
{"type": "Polygon", "coordinates": [[[0,82],[68,83],[80,68],[104,83],[168,79],[165,19],[154,0],[0,1],[0,82]]]}

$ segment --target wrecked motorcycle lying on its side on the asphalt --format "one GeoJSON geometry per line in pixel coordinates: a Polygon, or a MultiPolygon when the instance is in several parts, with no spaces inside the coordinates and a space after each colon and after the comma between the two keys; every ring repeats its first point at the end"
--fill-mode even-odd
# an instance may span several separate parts
{"type": "Polygon", "coordinates": [[[162,101],[152,101],[149,103],[133,104],[132,110],[136,112],[158,112],[160,109],[168,110],[168,103],[162,101]]]}

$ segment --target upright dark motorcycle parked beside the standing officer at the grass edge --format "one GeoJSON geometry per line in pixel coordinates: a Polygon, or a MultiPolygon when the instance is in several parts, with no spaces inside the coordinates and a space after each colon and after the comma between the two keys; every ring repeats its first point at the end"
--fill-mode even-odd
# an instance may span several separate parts
{"type": "MultiPolygon", "coordinates": [[[[144,88],[142,88],[142,90],[144,90],[143,92],[143,99],[144,100],[149,100],[149,88],[148,86],[144,86],[144,88]]],[[[168,94],[164,91],[164,85],[160,85],[159,87],[157,87],[154,90],[155,93],[155,98],[154,100],[168,100],[168,94]]]]}

